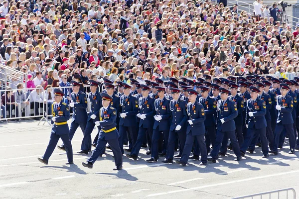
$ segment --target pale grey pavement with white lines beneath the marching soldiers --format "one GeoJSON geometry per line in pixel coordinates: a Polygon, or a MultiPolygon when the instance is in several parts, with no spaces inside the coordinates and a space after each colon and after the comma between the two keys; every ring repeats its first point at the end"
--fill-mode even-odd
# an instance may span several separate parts
{"type": "MultiPolygon", "coordinates": [[[[124,169],[113,171],[109,149],[93,169],[82,166],[91,153],[76,153],[83,138],[78,128],[72,140],[74,164],[65,165],[66,153],[55,149],[46,166],[37,157],[45,152],[51,131],[47,124],[37,123],[0,123],[0,199],[230,199],[284,188],[294,188],[299,195],[299,151],[289,155],[288,143],[268,159],[256,148],[254,154],[234,162],[228,150],[228,156],[215,164],[189,161],[186,167],[165,165],[164,157],[147,163],[147,149],[141,149],[138,161],[124,155],[124,169]]],[[[94,129],[92,138],[96,133],[94,129]]]]}

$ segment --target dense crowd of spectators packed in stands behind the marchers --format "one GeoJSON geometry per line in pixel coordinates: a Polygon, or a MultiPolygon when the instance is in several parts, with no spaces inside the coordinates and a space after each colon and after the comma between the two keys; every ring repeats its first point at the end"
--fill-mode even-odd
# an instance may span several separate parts
{"type": "Polygon", "coordinates": [[[1,109],[18,115],[45,108],[50,88],[73,79],[84,85],[103,78],[195,81],[204,74],[292,79],[299,70],[299,27],[278,20],[276,3],[253,6],[248,13],[226,0],[0,0],[0,59],[13,69],[8,86],[33,89],[5,92],[1,109]]]}

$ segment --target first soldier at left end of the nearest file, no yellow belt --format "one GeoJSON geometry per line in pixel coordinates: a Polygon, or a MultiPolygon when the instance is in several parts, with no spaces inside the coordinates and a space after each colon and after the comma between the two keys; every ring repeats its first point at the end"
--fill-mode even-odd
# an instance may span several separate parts
{"type": "Polygon", "coordinates": [[[188,124],[186,131],[186,143],[184,146],[183,154],[180,160],[176,160],[177,164],[186,166],[194,140],[197,141],[200,148],[201,162],[199,165],[207,164],[207,147],[204,141],[205,134],[205,111],[202,104],[196,101],[198,93],[193,89],[188,89],[190,102],[187,104],[188,124]]]}

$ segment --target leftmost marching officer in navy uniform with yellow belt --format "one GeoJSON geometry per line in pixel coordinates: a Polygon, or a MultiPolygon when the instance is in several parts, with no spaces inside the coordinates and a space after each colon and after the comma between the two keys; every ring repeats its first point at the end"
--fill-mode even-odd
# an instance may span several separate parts
{"type": "Polygon", "coordinates": [[[54,89],[54,100],[55,102],[52,104],[52,120],[51,124],[54,124],[52,127],[50,141],[45,151],[45,154],[42,158],[37,158],[39,162],[48,164],[48,160],[52,155],[55,146],[61,138],[67,155],[68,163],[73,164],[73,148],[69,138],[69,128],[67,121],[70,119],[70,110],[66,103],[63,102],[64,93],[59,89],[54,89]]]}

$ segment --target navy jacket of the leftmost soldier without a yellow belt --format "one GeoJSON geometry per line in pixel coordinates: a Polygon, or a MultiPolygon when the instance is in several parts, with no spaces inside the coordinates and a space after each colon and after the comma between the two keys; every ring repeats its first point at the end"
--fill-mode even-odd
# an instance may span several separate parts
{"type": "Polygon", "coordinates": [[[87,121],[87,98],[86,94],[79,91],[76,95],[74,92],[71,94],[71,102],[75,102],[73,107],[72,122],[81,123],[87,121]],[[77,103],[76,103],[77,102],[77,103]]]}

